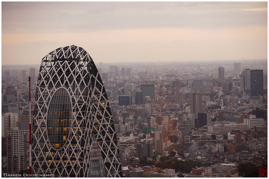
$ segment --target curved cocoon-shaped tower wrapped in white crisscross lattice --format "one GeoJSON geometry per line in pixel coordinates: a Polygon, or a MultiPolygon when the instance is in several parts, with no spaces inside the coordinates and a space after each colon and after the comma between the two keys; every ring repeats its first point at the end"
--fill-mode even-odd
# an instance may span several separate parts
{"type": "Polygon", "coordinates": [[[32,173],[95,177],[104,168],[106,177],[122,177],[110,105],[90,55],[61,47],[42,59],[39,72],[32,173]]]}

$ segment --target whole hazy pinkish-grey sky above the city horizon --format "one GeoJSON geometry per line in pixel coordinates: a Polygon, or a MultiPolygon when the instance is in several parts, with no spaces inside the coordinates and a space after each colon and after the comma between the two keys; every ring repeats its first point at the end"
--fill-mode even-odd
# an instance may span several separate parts
{"type": "Polygon", "coordinates": [[[267,2],[2,2],[2,64],[267,59],[267,2]]]}

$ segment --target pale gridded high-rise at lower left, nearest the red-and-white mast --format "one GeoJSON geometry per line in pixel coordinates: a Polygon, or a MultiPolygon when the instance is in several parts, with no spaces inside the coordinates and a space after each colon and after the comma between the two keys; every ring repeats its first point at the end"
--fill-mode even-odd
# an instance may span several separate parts
{"type": "Polygon", "coordinates": [[[7,131],[7,159],[10,173],[27,169],[26,130],[10,127],[7,131]]]}

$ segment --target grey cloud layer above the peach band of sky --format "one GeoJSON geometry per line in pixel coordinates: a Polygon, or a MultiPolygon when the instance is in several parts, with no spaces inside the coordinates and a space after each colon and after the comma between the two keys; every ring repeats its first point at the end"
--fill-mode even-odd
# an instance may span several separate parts
{"type": "Polygon", "coordinates": [[[2,32],[267,26],[267,2],[3,2],[2,32]],[[20,8],[19,8],[20,7],[20,8]]]}

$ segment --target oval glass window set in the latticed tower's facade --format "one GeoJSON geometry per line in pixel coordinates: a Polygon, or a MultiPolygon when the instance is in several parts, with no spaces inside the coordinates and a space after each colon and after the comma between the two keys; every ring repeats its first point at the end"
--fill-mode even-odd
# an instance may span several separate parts
{"type": "Polygon", "coordinates": [[[47,134],[55,150],[61,150],[68,142],[72,118],[71,96],[61,87],[51,98],[47,114],[47,134]]]}

